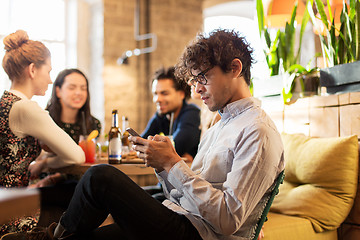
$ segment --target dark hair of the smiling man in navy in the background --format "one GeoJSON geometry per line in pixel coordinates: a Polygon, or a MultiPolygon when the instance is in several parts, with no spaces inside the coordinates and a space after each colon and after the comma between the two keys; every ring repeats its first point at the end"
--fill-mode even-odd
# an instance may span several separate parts
{"type": "Polygon", "coordinates": [[[153,75],[151,84],[154,80],[161,80],[161,79],[171,79],[174,82],[174,88],[177,91],[183,91],[185,93],[185,99],[189,99],[191,96],[191,88],[185,82],[181,81],[181,79],[175,76],[175,67],[159,68],[153,75]]]}

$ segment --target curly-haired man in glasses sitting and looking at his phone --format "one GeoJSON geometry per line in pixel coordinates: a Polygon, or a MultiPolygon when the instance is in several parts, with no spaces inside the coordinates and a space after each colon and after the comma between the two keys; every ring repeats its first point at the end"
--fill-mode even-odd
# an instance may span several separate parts
{"type": "Polygon", "coordinates": [[[168,138],[130,137],[155,169],[167,200],[159,203],[122,172],[98,165],[82,177],[59,223],[27,236],[252,239],[284,157],[274,123],[249,91],[251,54],[245,39],[227,30],[199,35],[186,47],[177,75],[221,115],[201,140],[191,168],[168,138]],[[109,213],[115,224],[97,228],[109,213]]]}

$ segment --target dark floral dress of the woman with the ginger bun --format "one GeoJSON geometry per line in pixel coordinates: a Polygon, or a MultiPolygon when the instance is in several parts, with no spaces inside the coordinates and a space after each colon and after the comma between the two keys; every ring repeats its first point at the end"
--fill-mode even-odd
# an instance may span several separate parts
{"type": "MultiPolygon", "coordinates": [[[[0,100],[0,187],[26,187],[29,184],[28,167],[41,152],[37,139],[17,137],[9,127],[9,114],[13,104],[21,98],[5,91],[0,100]]],[[[0,236],[14,231],[28,231],[37,224],[38,214],[13,219],[0,225],[0,236]]]]}

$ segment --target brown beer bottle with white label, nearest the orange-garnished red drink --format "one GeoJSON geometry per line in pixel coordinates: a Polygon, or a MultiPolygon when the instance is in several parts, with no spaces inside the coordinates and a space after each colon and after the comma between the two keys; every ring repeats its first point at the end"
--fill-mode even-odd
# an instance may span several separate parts
{"type": "Polygon", "coordinates": [[[109,163],[121,163],[121,131],[119,129],[117,110],[112,111],[112,123],[109,131],[109,163]]]}

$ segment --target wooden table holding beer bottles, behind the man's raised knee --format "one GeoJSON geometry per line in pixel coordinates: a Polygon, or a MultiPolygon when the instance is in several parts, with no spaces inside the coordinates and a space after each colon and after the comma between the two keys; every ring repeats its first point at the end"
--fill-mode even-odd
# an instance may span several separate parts
{"type": "MultiPolygon", "coordinates": [[[[83,163],[79,165],[71,165],[68,167],[50,169],[50,172],[61,172],[74,175],[83,175],[86,170],[97,164],[108,164],[105,158],[98,160],[96,163],[83,163]]],[[[126,175],[128,175],[139,186],[148,186],[157,184],[158,180],[155,176],[154,169],[146,167],[141,159],[132,159],[124,164],[110,164],[126,175]]]]}

